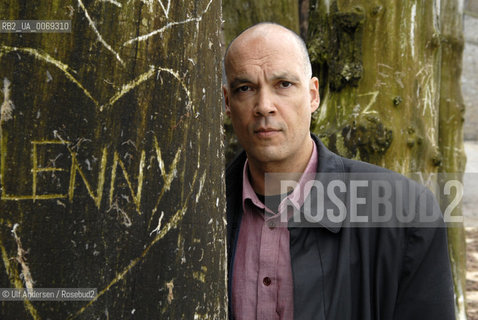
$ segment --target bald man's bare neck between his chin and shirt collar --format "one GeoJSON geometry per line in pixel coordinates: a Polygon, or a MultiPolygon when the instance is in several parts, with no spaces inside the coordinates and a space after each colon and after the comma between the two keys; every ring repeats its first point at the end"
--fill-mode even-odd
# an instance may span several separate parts
{"type": "Polygon", "coordinates": [[[312,138],[310,138],[306,143],[307,147],[304,148],[304,152],[299,153],[297,157],[288,161],[259,163],[249,160],[249,180],[254,191],[262,195],[275,195],[281,192],[281,180],[299,181],[312,156],[314,143],[312,138]],[[277,174],[268,176],[267,186],[265,180],[266,173],[277,174]]]}

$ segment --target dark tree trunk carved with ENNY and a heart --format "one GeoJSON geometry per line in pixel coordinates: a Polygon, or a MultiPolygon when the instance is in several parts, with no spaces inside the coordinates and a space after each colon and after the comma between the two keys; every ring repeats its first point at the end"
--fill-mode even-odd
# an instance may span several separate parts
{"type": "Polygon", "coordinates": [[[0,34],[2,319],[225,319],[221,3],[10,1],[0,34]]]}

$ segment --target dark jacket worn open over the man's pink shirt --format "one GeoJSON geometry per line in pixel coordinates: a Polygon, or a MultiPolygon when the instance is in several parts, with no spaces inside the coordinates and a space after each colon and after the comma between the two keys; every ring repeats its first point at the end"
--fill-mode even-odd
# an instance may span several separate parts
{"type": "MultiPolygon", "coordinates": [[[[320,173],[390,173],[342,158],[313,138],[320,173]]],[[[231,275],[243,211],[245,159],[242,153],[226,171],[230,318],[231,275]]],[[[439,211],[428,189],[422,189],[433,204],[432,210],[439,211]]],[[[315,228],[289,225],[289,231],[294,319],[455,319],[446,228],[442,221],[434,228],[352,228],[324,220],[315,228]]]]}

